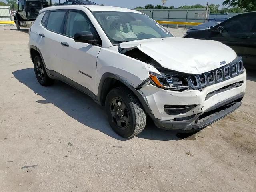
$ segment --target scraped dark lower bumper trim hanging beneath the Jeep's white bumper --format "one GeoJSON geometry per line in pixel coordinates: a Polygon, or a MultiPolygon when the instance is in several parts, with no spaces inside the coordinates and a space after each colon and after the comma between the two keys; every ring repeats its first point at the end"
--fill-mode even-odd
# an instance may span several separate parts
{"type": "Polygon", "coordinates": [[[244,92],[233,96],[227,100],[224,100],[208,110],[196,114],[195,116],[190,116],[187,118],[177,118],[175,120],[159,120],[151,116],[157,127],[166,130],[194,130],[202,129],[213,122],[216,122],[228,114],[232,113],[234,110],[239,108],[242,104],[242,98],[244,97],[244,92]]]}

